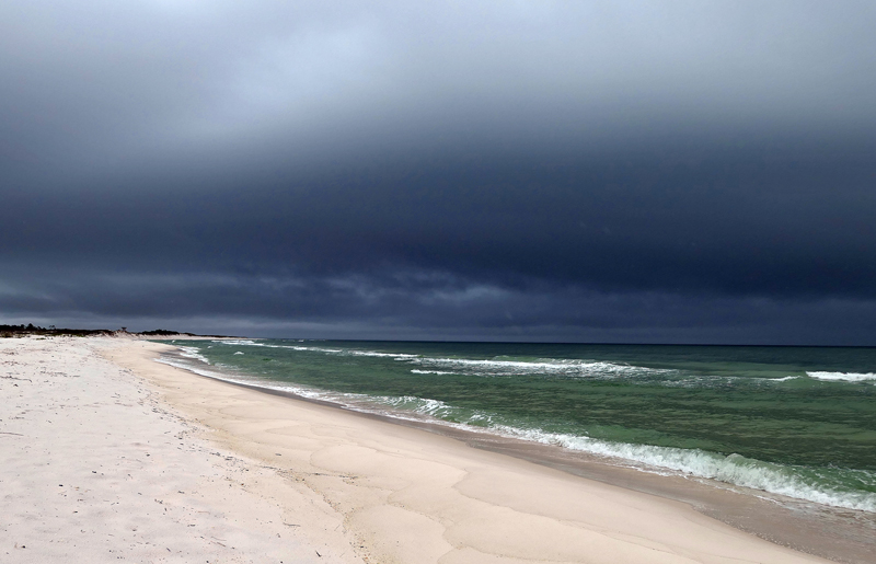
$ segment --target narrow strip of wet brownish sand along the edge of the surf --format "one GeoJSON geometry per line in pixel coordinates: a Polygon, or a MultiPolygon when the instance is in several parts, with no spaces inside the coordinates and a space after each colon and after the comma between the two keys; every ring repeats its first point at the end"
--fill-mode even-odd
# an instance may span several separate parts
{"type": "MultiPolygon", "coordinates": [[[[176,345],[170,346],[176,348],[176,345]]],[[[166,366],[189,372],[196,378],[419,429],[459,440],[471,448],[525,460],[581,479],[684,503],[698,513],[740,531],[802,553],[837,562],[867,564],[876,552],[876,515],[866,511],[823,506],[703,477],[642,470],[623,463],[620,459],[604,459],[583,451],[504,437],[476,428],[465,429],[440,422],[357,411],[328,400],[207,376],[175,364],[166,366]]]]}

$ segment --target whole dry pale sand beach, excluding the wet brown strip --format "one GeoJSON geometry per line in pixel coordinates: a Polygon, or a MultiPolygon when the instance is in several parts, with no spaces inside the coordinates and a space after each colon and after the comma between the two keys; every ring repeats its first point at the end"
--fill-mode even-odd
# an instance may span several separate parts
{"type": "Polygon", "coordinates": [[[203,378],[0,339],[0,561],[805,563],[683,503],[203,378]]]}

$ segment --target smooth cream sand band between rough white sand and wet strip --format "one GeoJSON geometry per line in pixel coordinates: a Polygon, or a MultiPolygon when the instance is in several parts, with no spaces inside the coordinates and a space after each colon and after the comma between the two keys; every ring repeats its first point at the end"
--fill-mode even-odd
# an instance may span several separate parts
{"type": "MultiPolygon", "coordinates": [[[[328,488],[330,503],[337,504],[345,513],[344,521],[357,537],[370,539],[370,552],[381,561],[436,562],[440,554],[456,553],[461,557],[459,562],[507,559],[512,559],[507,560],[509,562],[618,562],[624,559],[705,562],[730,557],[737,561],[750,557],[752,562],[825,562],[750,536],[696,513],[681,502],[586,480],[504,453],[473,449],[457,438],[379,417],[267,394],[264,390],[249,390],[155,362],[154,356],[155,353],[141,352],[139,360],[127,358],[128,367],[138,373],[151,372],[160,380],[146,373],[140,376],[154,384],[163,381],[164,385],[186,390],[183,395],[177,392],[165,400],[184,411],[196,403],[198,415],[206,417],[198,417],[199,421],[233,433],[224,446],[241,449],[250,457],[285,463],[290,459],[284,449],[291,449],[299,451],[298,457],[290,453],[295,457],[292,471],[311,468],[315,462],[322,471],[318,473],[341,472],[357,476],[356,481],[366,474],[366,482],[381,483],[380,493],[368,486],[344,483],[344,479],[328,488]],[[223,400],[205,410],[204,401],[196,401],[188,393],[195,391],[196,396],[211,394],[215,400],[217,395],[223,400]],[[227,419],[230,415],[234,423],[227,419]],[[311,434],[314,427],[331,429],[324,433],[335,439],[341,435],[344,440],[314,445],[315,437],[311,434]],[[286,442],[284,437],[291,437],[291,440],[286,442]],[[326,450],[337,452],[325,457],[326,450]],[[283,456],[277,457],[278,453],[283,456]],[[403,456],[399,458],[399,454],[403,456]],[[393,470],[387,464],[402,468],[393,470]],[[399,487],[393,487],[392,483],[399,487]],[[590,503],[569,507],[566,500],[577,496],[590,503]],[[631,510],[632,507],[635,510],[631,510]],[[503,511],[511,515],[498,518],[496,514],[503,511]],[[418,522],[406,525],[411,520],[418,522]],[[530,530],[541,531],[533,536],[530,530]],[[509,536],[509,531],[515,532],[509,536]],[[392,538],[397,549],[385,544],[387,539],[392,538]],[[448,538],[453,542],[448,543],[448,538]],[[577,546],[569,541],[575,538],[580,539],[577,546]],[[434,546],[434,553],[419,557],[416,546],[424,542],[434,546]],[[509,542],[511,545],[506,545],[509,542]],[[593,549],[598,555],[593,554],[593,549]],[[463,554],[468,555],[462,557],[463,554]]],[[[325,484],[319,480],[309,485],[324,495],[327,493],[322,490],[325,484]]],[[[448,560],[452,561],[456,560],[448,560]]]]}

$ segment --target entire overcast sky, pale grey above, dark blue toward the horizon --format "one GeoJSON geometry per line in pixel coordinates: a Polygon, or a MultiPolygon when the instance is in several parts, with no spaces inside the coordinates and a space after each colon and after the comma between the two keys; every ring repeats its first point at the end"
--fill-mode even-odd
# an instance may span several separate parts
{"type": "Polygon", "coordinates": [[[876,345],[871,1],[0,4],[0,323],[876,345]]]}

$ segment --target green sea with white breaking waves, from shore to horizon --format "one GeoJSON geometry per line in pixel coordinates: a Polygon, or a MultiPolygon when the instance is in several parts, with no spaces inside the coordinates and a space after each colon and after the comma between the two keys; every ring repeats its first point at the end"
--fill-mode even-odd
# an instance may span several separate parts
{"type": "Polygon", "coordinates": [[[874,348],[174,344],[220,378],[876,513],[874,348]]]}

